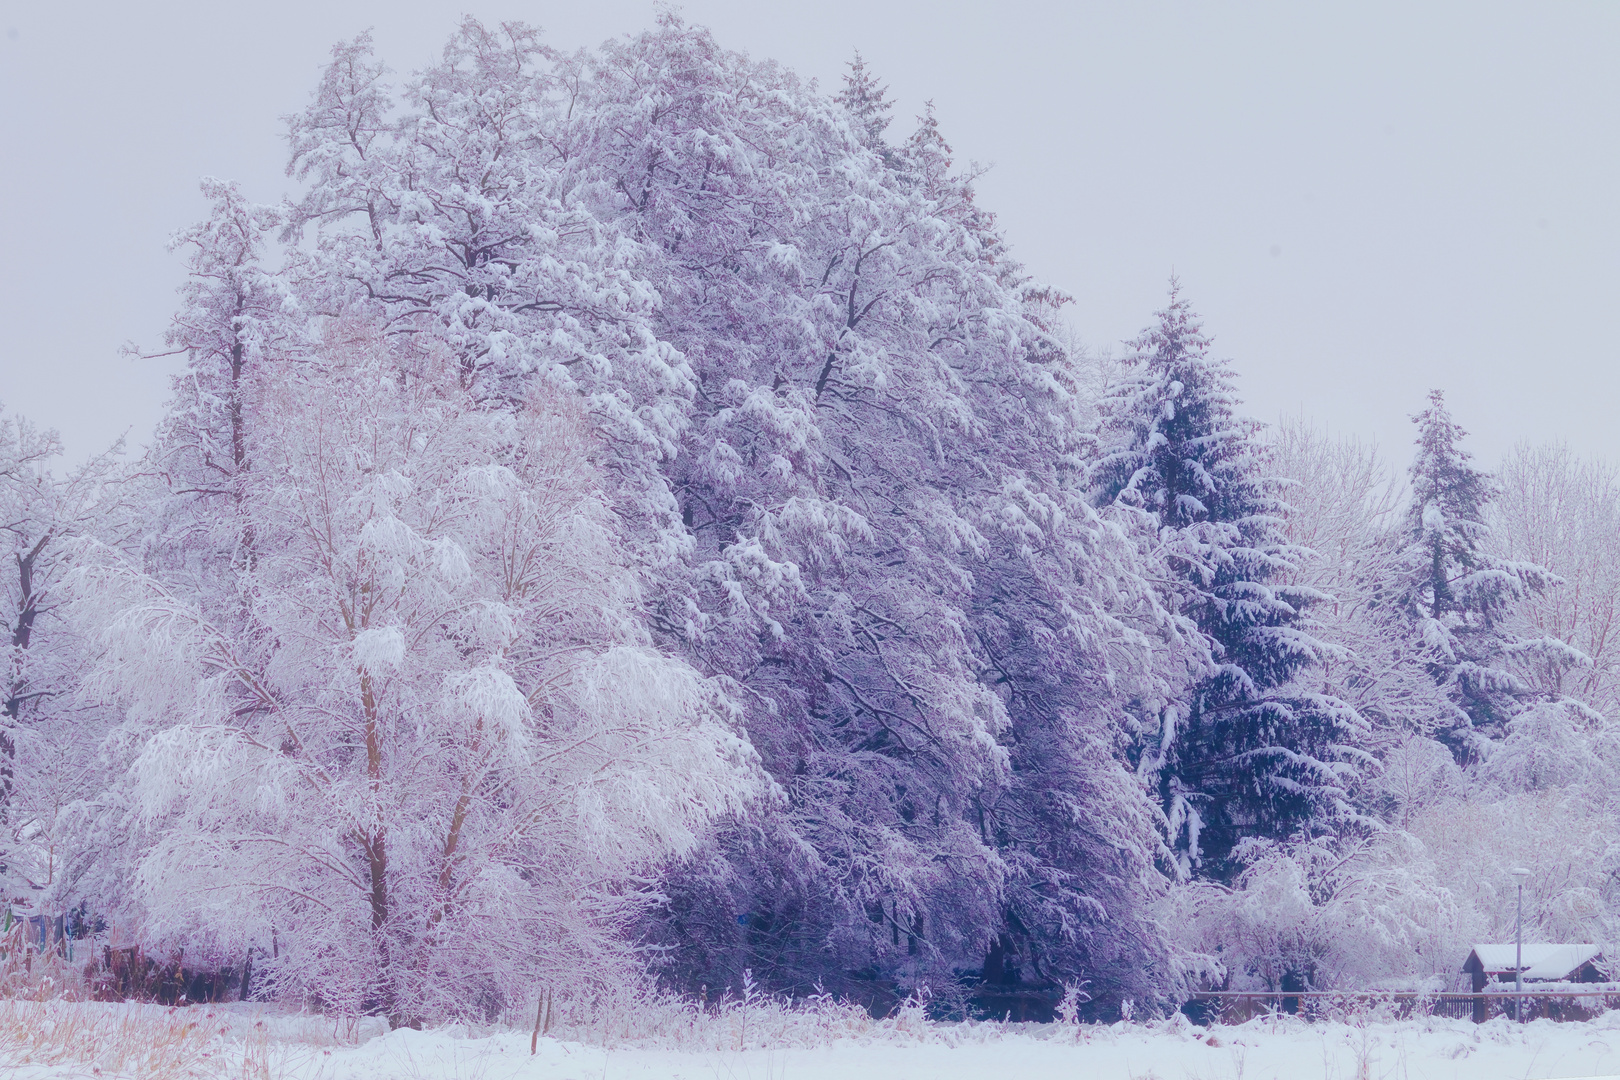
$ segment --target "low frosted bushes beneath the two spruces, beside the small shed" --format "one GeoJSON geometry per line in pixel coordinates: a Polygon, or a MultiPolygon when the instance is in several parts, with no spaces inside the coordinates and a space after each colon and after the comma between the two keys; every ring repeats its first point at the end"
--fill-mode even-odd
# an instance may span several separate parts
{"type": "Polygon", "coordinates": [[[1445,989],[1474,942],[1513,939],[1523,866],[1528,941],[1614,942],[1615,763],[1607,725],[1557,703],[1511,721],[1469,776],[1414,735],[1372,784],[1388,824],[1249,845],[1231,887],[1176,889],[1165,923],[1233,989],[1445,989]]]}

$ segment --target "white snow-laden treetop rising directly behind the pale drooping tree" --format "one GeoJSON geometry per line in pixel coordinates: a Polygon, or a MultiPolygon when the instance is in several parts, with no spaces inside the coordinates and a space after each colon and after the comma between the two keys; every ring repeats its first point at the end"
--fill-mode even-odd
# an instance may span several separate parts
{"type": "MultiPolygon", "coordinates": [[[[481,402],[517,405],[538,382],[585,395],[614,452],[627,541],[680,551],[658,476],[692,393],[650,314],[640,243],[583,202],[580,58],[559,60],[522,23],[467,18],[437,63],[407,81],[361,36],[332,50],[314,100],[292,118],[288,172],[309,186],[285,238],[313,232],[292,277],[311,311],[381,311],[390,335],[428,335],[481,402]]],[[[650,102],[642,102],[651,107],[650,102]]]]}

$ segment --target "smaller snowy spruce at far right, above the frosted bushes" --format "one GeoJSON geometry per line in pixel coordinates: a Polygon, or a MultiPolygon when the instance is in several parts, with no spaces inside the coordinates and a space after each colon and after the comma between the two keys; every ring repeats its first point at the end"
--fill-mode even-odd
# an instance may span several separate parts
{"type": "Polygon", "coordinates": [[[1542,567],[1490,554],[1486,510],[1497,495],[1487,473],[1469,465],[1468,434],[1445,408],[1440,390],[1413,416],[1418,455],[1409,468],[1411,502],[1406,546],[1392,593],[1424,649],[1434,680],[1452,701],[1442,738],[1463,763],[1486,742],[1502,737],[1508,721],[1533,696],[1515,665],[1586,662],[1562,641],[1521,638],[1507,625],[1515,604],[1557,580],[1542,567]]]}

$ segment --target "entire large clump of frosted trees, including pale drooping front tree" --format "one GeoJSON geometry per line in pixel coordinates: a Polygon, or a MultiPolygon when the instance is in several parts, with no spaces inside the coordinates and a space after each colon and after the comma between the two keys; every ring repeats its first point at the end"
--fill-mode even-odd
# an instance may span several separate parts
{"type": "Polygon", "coordinates": [[[334,50],[295,201],[204,181],[134,542],[75,549],[99,907],[395,1018],[654,895],[687,986],[1178,983],[1128,746],[1186,623],[1092,505],[1064,298],[883,97],[467,19],[334,50]]]}

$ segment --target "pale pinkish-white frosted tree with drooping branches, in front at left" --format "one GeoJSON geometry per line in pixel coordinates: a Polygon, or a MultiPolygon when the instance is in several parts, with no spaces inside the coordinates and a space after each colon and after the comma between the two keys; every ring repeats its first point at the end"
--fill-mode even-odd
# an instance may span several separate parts
{"type": "Polygon", "coordinates": [[[262,387],[241,619],[105,546],[75,578],[143,938],[394,1022],[611,980],[632,876],[757,787],[646,643],[577,400],[483,408],[452,356],[355,316],[262,387]]]}

